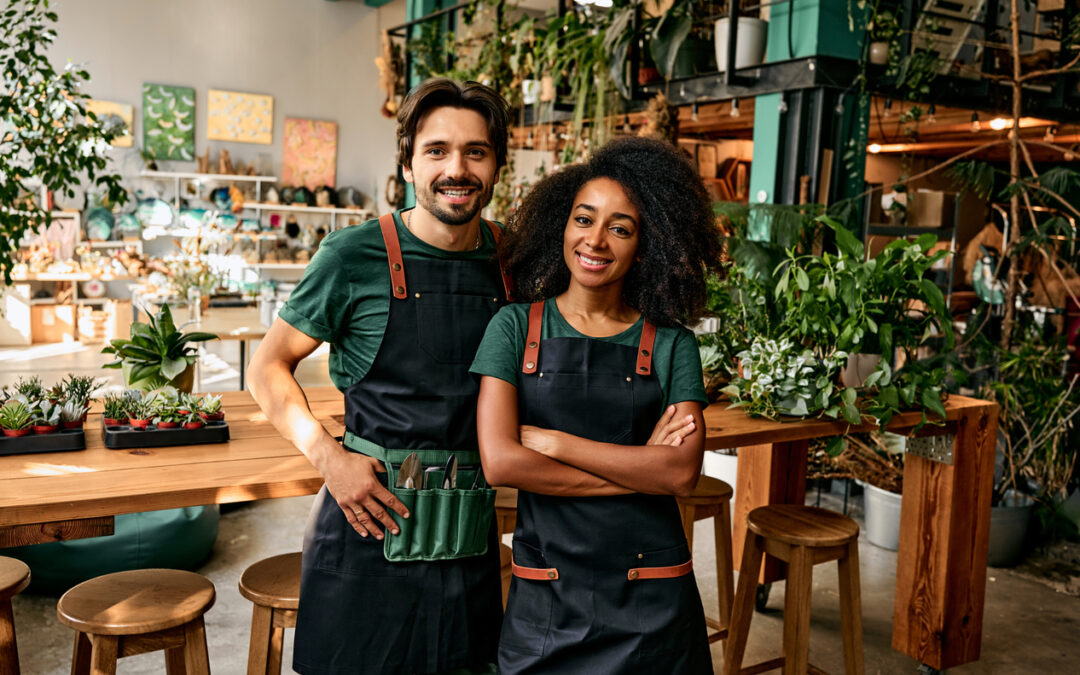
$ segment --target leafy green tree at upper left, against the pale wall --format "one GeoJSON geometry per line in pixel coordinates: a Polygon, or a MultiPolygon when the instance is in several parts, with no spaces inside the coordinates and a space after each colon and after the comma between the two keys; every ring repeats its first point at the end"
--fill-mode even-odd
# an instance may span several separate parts
{"type": "Polygon", "coordinates": [[[119,127],[86,112],[81,92],[90,73],[68,63],[57,71],[45,55],[56,39],[49,0],[8,0],[0,15],[0,270],[11,282],[18,243],[48,227],[51,215],[35,199],[41,186],[75,195],[93,185],[113,203],[126,197],[120,176],[106,171],[119,127]]]}

